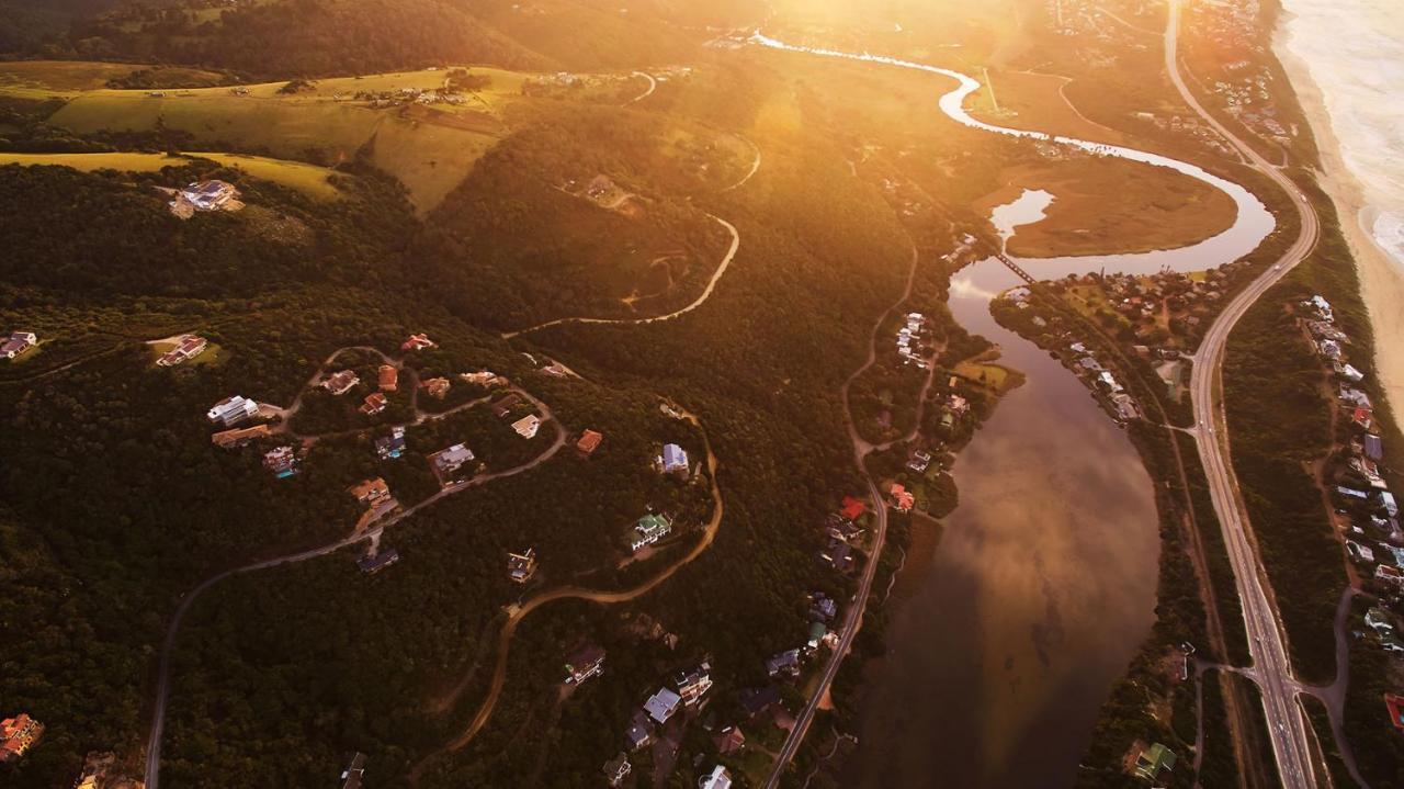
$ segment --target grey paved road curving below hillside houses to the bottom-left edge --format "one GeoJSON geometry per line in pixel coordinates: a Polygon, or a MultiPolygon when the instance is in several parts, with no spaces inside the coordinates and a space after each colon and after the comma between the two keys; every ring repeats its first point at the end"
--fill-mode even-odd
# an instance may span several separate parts
{"type": "MultiPolygon", "coordinates": [[[[331,364],[331,361],[336,359],[336,357],[340,355],[345,350],[348,350],[348,348],[338,350],[336,354],[333,354],[323,364],[323,368],[326,365],[331,364]]],[[[373,348],[371,348],[371,350],[373,350],[373,348]]],[[[376,351],[376,352],[379,352],[379,351],[376,351]]],[[[383,354],[380,354],[380,355],[385,357],[383,354]]],[[[385,357],[385,358],[389,358],[389,357],[385,357]]],[[[310,382],[307,383],[307,386],[312,386],[312,385],[316,383],[316,380],[320,378],[320,373],[322,373],[323,368],[319,368],[319,375],[314,375],[310,379],[310,382]]],[[[205,591],[208,591],[212,587],[218,585],[220,581],[229,580],[229,578],[232,578],[234,576],[241,576],[244,573],[254,573],[254,571],[258,571],[258,570],[268,570],[268,569],[279,567],[279,566],[284,566],[284,564],[296,564],[299,562],[306,562],[309,559],[317,559],[320,556],[327,556],[330,553],[336,553],[337,550],[341,550],[343,548],[350,548],[350,546],[357,545],[359,542],[366,542],[366,541],[379,538],[380,533],[385,532],[385,529],[393,526],[395,524],[399,524],[400,521],[403,521],[403,519],[414,515],[416,512],[418,512],[418,511],[421,511],[421,510],[424,510],[427,507],[431,507],[431,505],[437,504],[438,501],[441,501],[441,500],[444,500],[444,498],[446,498],[449,496],[453,496],[453,494],[461,493],[463,490],[469,490],[472,487],[487,484],[487,483],[490,483],[493,480],[498,480],[498,479],[504,479],[504,477],[510,477],[510,476],[515,476],[515,475],[519,475],[519,473],[529,472],[529,470],[535,469],[536,466],[541,466],[546,460],[552,459],[557,452],[560,452],[560,448],[566,445],[566,430],[564,430],[564,427],[562,427],[562,424],[560,424],[559,420],[553,418],[550,407],[548,407],[545,403],[542,403],[541,400],[538,400],[536,397],[534,397],[531,393],[528,393],[525,390],[515,389],[515,392],[518,392],[526,400],[529,400],[534,406],[536,406],[536,409],[541,411],[542,423],[548,423],[548,424],[550,424],[550,425],[553,425],[556,428],[556,438],[555,438],[555,441],[552,441],[552,445],[546,451],[543,451],[541,455],[532,458],[531,460],[528,460],[528,462],[525,462],[525,463],[522,463],[519,466],[512,466],[511,469],[504,469],[504,470],[496,472],[496,473],[482,475],[482,476],[473,477],[473,479],[470,479],[470,480],[468,480],[465,483],[455,484],[455,486],[451,486],[451,487],[445,487],[445,489],[439,490],[438,493],[435,493],[434,496],[430,496],[424,501],[420,501],[414,507],[409,507],[409,508],[400,510],[395,515],[392,515],[388,519],[385,519],[380,525],[375,526],[373,529],[366,529],[364,533],[352,535],[352,536],[348,536],[348,538],[344,538],[344,539],[338,539],[338,541],[330,542],[327,545],[323,545],[320,548],[312,548],[312,549],[302,550],[302,552],[298,552],[298,553],[289,553],[286,556],[277,556],[277,557],[272,557],[272,559],[265,559],[265,560],[261,560],[261,562],[254,562],[251,564],[244,564],[241,567],[233,567],[230,570],[225,570],[222,573],[218,573],[215,576],[211,576],[211,577],[205,578],[204,581],[201,581],[201,584],[198,587],[195,587],[194,590],[191,590],[190,592],[187,592],[181,598],[180,605],[176,608],[176,615],[171,616],[170,625],[167,625],[167,628],[166,628],[166,637],[161,640],[160,661],[157,664],[157,674],[156,674],[156,698],[154,698],[153,709],[152,709],[152,727],[150,727],[150,733],[147,734],[147,741],[146,741],[146,774],[145,774],[145,778],[143,778],[146,789],[157,789],[159,783],[160,783],[161,737],[166,733],[166,706],[167,706],[167,701],[170,699],[170,671],[171,671],[170,664],[171,664],[171,653],[176,649],[176,639],[180,635],[181,622],[185,619],[185,614],[190,611],[190,608],[195,602],[195,599],[201,594],[204,594],[205,591]]],[[[298,399],[300,400],[302,396],[299,394],[298,399]]]]}

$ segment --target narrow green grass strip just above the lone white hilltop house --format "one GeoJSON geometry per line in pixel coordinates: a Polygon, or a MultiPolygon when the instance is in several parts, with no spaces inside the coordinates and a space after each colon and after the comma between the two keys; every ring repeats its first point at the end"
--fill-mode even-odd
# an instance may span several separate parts
{"type": "MultiPolygon", "coordinates": [[[[305,164],[302,161],[286,161],[282,159],[268,159],[264,156],[241,156],[236,153],[190,153],[192,157],[209,159],[225,167],[234,167],[264,181],[272,181],[292,190],[298,190],[307,197],[317,199],[333,199],[338,191],[331,181],[331,170],[305,164]]],[[[167,156],[164,153],[0,153],[0,164],[55,164],[72,167],[84,173],[95,170],[119,170],[124,173],[156,173],[161,167],[178,167],[188,164],[190,159],[183,156],[167,156]]]]}

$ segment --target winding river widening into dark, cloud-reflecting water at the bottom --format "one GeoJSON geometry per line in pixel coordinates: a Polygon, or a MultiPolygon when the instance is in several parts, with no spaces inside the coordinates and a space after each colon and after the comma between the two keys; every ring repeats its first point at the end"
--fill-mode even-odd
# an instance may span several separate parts
{"type": "MultiPolygon", "coordinates": [[[[1223,233],[1178,250],[1019,260],[1038,278],[1091,271],[1195,271],[1252,251],[1273,218],[1248,190],[1202,167],[1136,149],[1007,129],[972,117],[974,79],[870,53],[789,52],[914,69],[955,80],[938,105],[952,121],[1164,167],[1210,184],[1237,206],[1223,233]]],[[[1049,201],[1025,191],[991,216],[1008,239],[1049,201]]],[[[869,667],[859,745],[845,786],[1071,786],[1111,685],[1154,622],[1160,541],[1151,480],[1130,441],[1057,361],[990,316],[1018,277],[988,258],[962,270],[951,310],[1026,375],[962,452],[960,507],[915,591],[893,612],[889,654],[869,667]]]]}

